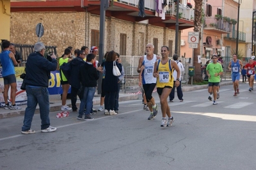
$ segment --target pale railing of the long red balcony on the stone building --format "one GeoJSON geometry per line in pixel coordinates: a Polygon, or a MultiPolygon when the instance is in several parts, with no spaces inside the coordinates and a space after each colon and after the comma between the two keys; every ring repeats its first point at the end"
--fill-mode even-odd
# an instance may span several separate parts
{"type": "MultiPolygon", "coordinates": [[[[114,0],[114,1],[118,3],[128,4],[130,6],[136,6],[136,7],[139,4],[139,0],[114,0]]],[[[169,6],[169,10],[167,10],[166,15],[171,15],[176,17],[176,4],[173,1],[171,1],[171,3],[168,6],[169,6]]],[[[155,0],[146,0],[144,8],[145,10],[155,12],[155,8],[156,8],[155,0]]],[[[194,10],[189,8],[185,4],[180,4],[178,17],[180,19],[194,20],[194,10]]]]}

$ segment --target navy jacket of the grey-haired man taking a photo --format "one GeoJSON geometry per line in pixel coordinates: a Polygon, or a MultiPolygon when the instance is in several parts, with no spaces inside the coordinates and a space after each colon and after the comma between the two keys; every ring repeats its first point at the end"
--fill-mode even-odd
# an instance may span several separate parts
{"type": "Polygon", "coordinates": [[[39,52],[33,52],[26,63],[26,85],[48,87],[50,72],[56,68],[56,59],[49,61],[39,52]]]}

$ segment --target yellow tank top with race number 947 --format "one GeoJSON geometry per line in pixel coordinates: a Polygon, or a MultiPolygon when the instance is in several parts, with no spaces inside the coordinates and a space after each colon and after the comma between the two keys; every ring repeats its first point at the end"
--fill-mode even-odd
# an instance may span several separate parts
{"type": "Polygon", "coordinates": [[[161,63],[161,59],[157,61],[157,88],[170,86],[173,88],[173,68],[171,68],[171,59],[165,65],[161,63]]]}

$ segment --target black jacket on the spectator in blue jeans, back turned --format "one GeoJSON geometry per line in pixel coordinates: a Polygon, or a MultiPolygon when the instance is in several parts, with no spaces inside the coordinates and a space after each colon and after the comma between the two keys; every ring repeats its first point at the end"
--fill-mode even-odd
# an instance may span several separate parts
{"type": "Polygon", "coordinates": [[[99,73],[93,65],[85,63],[80,66],[79,79],[81,85],[85,87],[96,87],[99,73]]]}

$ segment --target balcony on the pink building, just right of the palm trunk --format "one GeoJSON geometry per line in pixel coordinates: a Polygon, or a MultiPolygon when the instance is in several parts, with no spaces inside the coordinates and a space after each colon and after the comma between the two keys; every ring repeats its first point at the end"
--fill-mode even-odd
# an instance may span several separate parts
{"type": "Polygon", "coordinates": [[[232,24],[230,22],[223,21],[223,19],[214,19],[214,17],[205,19],[205,30],[225,34],[231,32],[231,27],[232,24]]]}

